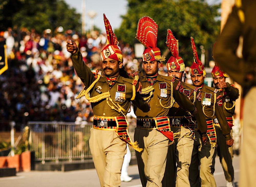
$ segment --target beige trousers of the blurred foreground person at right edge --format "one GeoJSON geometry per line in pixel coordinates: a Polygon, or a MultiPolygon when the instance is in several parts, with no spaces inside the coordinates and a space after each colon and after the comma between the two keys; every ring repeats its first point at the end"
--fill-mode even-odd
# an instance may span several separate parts
{"type": "Polygon", "coordinates": [[[256,173],[256,86],[244,98],[239,186],[255,186],[256,173]]]}

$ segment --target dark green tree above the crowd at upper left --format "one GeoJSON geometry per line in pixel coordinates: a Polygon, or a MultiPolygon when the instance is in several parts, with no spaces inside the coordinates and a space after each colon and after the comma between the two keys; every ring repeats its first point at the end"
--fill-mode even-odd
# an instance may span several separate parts
{"type": "Polygon", "coordinates": [[[80,30],[81,15],[63,0],[3,0],[0,3],[1,28],[26,27],[41,33],[45,29],[80,30]]]}

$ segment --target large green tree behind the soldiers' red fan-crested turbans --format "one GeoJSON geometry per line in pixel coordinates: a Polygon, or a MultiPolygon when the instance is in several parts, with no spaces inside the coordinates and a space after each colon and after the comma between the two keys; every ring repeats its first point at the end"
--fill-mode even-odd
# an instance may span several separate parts
{"type": "MultiPolygon", "coordinates": [[[[128,10],[115,34],[120,41],[133,46],[137,23],[142,16],[150,16],[158,24],[157,46],[167,59],[170,53],[165,45],[167,29],[179,40],[179,56],[185,65],[193,62],[190,36],[194,37],[198,55],[200,45],[211,51],[220,30],[219,5],[201,0],[127,0],[128,10]]],[[[206,53],[206,57],[209,56],[206,53]]],[[[206,59],[206,61],[209,59],[206,59]]]]}

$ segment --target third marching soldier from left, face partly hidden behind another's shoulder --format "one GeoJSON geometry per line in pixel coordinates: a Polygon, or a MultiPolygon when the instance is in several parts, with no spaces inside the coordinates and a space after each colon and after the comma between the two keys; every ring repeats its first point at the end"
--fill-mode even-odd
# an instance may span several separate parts
{"type": "Polygon", "coordinates": [[[191,162],[191,154],[195,140],[195,122],[197,121],[197,131],[200,138],[205,143],[207,140],[207,124],[201,103],[196,99],[197,87],[182,82],[185,65],[178,54],[178,40],[175,39],[172,31],[167,30],[166,45],[172,56],[166,63],[168,76],[175,77],[181,82],[179,91],[185,93],[190,101],[195,104],[197,114],[191,118],[191,115],[184,109],[180,108],[177,102],[169,109],[170,126],[173,132],[180,132],[174,139],[174,143],[169,146],[166,160],[166,172],[163,179],[163,186],[190,186],[188,179],[188,169],[191,162]],[[177,163],[177,167],[176,167],[177,163]],[[176,175],[177,173],[177,175],[176,175]]]}

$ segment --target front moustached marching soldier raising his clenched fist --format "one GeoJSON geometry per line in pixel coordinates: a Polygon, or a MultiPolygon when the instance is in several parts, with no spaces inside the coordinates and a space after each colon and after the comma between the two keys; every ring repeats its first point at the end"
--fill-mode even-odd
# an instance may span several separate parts
{"type": "Polygon", "coordinates": [[[100,185],[120,186],[126,143],[138,152],[142,151],[142,146],[132,142],[127,133],[126,114],[130,101],[143,112],[149,111],[150,107],[138,92],[138,76],[134,80],[120,77],[119,69],[123,66],[122,53],[108,19],[104,14],[103,17],[108,45],[102,50],[101,58],[106,77],[91,72],[84,64],[75,42],[68,41],[67,50],[72,54],[73,66],[86,87],[77,98],[84,95],[91,102],[94,113],[89,145],[100,185]]]}

